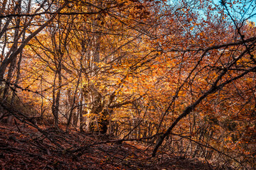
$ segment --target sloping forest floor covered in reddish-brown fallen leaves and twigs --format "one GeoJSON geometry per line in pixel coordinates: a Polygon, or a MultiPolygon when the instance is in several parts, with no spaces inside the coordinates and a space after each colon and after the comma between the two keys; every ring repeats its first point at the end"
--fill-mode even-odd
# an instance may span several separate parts
{"type": "MultiPolygon", "coordinates": [[[[0,169],[210,169],[196,159],[161,154],[139,142],[24,123],[0,123],[0,169]]],[[[213,166],[211,167],[213,169],[213,166]]]]}

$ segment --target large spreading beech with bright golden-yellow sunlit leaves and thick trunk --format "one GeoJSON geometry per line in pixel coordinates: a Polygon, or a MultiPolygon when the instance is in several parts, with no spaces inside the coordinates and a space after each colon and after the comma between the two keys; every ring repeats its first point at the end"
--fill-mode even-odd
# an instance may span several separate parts
{"type": "MultiPolygon", "coordinates": [[[[144,42],[143,37],[149,39],[154,36],[150,32],[151,25],[146,26],[145,23],[137,21],[138,17],[146,21],[145,11],[149,5],[129,2],[124,6],[123,3],[122,1],[113,1],[109,4],[99,2],[92,6],[90,3],[76,4],[74,2],[73,8],[63,9],[63,13],[73,13],[73,15],[55,18],[49,28],[29,43],[31,49],[27,50],[28,56],[36,53],[38,60],[29,61],[30,64],[23,68],[24,74],[27,70],[33,70],[31,74],[26,74],[26,77],[34,77],[35,81],[31,84],[28,79],[22,84],[23,86],[30,84],[31,89],[36,89],[41,86],[42,81],[46,81],[48,85],[42,87],[41,94],[46,98],[48,98],[48,92],[45,89],[53,89],[53,96],[48,100],[53,108],[55,122],[58,121],[58,113],[67,119],[68,125],[72,119],[78,119],[79,116],[82,121],[82,113],[86,113],[85,117],[89,124],[87,128],[94,129],[93,125],[90,125],[92,121],[96,123],[93,123],[94,126],[98,126],[95,129],[99,129],[100,126],[106,126],[101,125],[100,120],[105,124],[108,123],[110,118],[107,117],[110,117],[114,108],[132,103],[140,97],[127,94],[117,99],[119,96],[117,94],[120,94],[120,90],[124,88],[127,75],[137,69],[139,62],[148,60],[146,57],[151,56],[144,56],[146,53],[151,53],[151,50],[142,51],[146,49],[144,45],[141,49],[132,50],[134,45],[144,42]],[[109,9],[99,11],[101,8],[109,9]],[[119,10],[118,13],[116,9],[119,10]],[[134,13],[127,13],[125,9],[135,10],[140,14],[134,16],[134,13]],[[130,23],[126,23],[127,20],[130,23]],[[143,30],[139,30],[139,27],[143,30]],[[63,38],[65,42],[62,41],[63,38]],[[139,50],[143,53],[140,52],[140,56],[135,55],[139,50]],[[59,53],[61,57],[55,59],[59,53]],[[132,56],[128,57],[129,55],[132,56]],[[128,64],[128,62],[131,63],[128,64]],[[52,73],[48,74],[46,69],[48,73],[52,73]],[[46,80],[45,77],[48,79],[46,80]],[[60,94],[64,94],[66,98],[60,99],[60,94]],[[70,96],[71,94],[73,97],[70,96]],[[73,114],[75,108],[80,108],[79,114],[73,114]]],[[[41,103],[49,105],[44,100],[42,98],[41,103]]],[[[55,124],[58,125],[58,123],[55,124]]]]}

